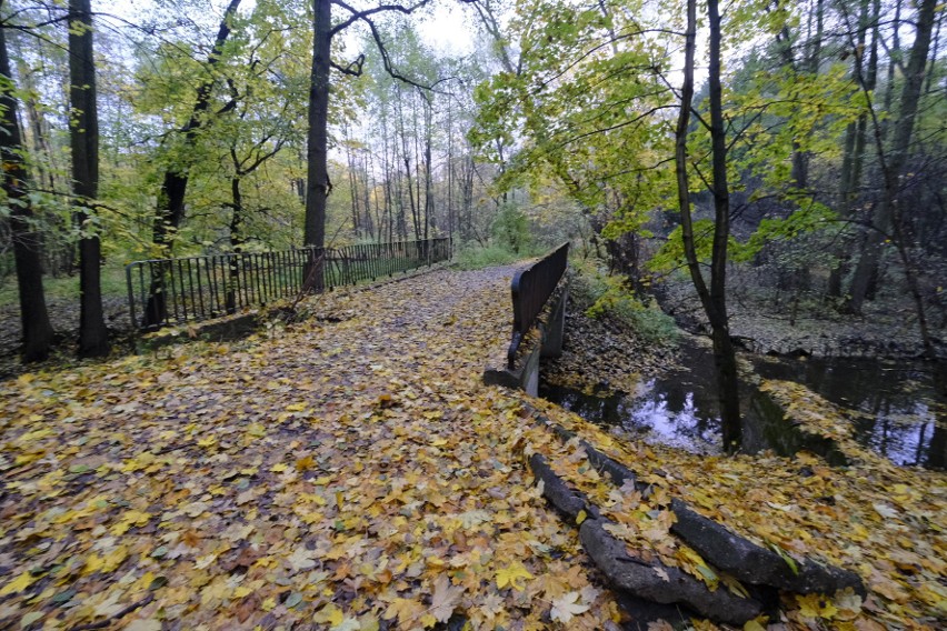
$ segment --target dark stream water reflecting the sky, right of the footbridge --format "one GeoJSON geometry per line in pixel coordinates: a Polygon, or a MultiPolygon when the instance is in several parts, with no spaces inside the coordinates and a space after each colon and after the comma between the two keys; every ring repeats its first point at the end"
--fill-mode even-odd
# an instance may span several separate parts
{"type": "MultiPolygon", "coordinates": [[[[854,438],[900,465],[947,468],[947,378],[923,362],[869,359],[770,358],[752,355],[764,379],[795,381],[843,408],[856,410],[854,438]]],[[[648,442],[695,453],[721,452],[720,414],[714,359],[706,349],[685,345],[689,370],[644,380],[635,392],[599,387],[591,393],[540,383],[539,395],[591,422],[619,428],[648,442]]],[[[799,450],[831,464],[845,457],[827,439],[804,433],[754,385],[741,385],[742,450],[772,449],[780,455],[799,450]]]]}

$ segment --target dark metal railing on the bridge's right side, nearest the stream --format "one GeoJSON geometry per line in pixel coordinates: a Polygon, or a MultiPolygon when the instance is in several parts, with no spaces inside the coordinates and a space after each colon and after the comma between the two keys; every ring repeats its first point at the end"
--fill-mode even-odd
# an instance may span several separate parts
{"type": "Polygon", "coordinates": [[[524,335],[532,327],[536,318],[542,311],[542,307],[562,274],[569,259],[569,243],[562,243],[552,252],[546,254],[528,268],[516,273],[510,284],[514,302],[514,330],[512,341],[507,351],[509,369],[516,368],[516,353],[522,342],[524,335]]]}

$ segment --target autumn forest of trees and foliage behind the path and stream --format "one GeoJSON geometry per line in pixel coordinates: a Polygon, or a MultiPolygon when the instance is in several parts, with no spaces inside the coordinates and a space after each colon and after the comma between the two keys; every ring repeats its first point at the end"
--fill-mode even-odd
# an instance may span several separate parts
{"type": "Polygon", "coordinates": [[[619,274],[605,306],[689,287],[727,332],[736,289],[943,353],[943,7],[686,4],[0,2],[24,359],[44,288],[108,352],[132,260],[441,236],[481,262],[572,240],[619,274]],[[469,50],[419,34],[435,10],[469,50]]]}

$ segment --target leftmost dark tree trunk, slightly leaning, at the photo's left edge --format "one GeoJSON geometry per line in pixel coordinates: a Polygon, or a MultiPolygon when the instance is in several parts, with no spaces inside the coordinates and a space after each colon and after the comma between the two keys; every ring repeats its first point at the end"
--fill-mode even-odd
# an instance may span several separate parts
{"type": "MultiPolygon", "coordinates": [[[[3,1],[0,0],[0,8],[3,1]]],[[[20,319],[23,327],[22,359],[41,361],[49,355],[52,327],[46,309],[40,262],[40,237],[32,223],[33,211],[27,191],[27,170],[23,167],[23,142],[17,122],[17,99],[12,94],[13,77],[7,54],[7,29],[0,28],[0,76],[7,89],[0,90],[0,132],[6,138],[0,143],[3,160],[3,191],[10,206],[10,230],[13,239],[13,259],[17,264],[17,288],[20,296],[20,319]]]]}

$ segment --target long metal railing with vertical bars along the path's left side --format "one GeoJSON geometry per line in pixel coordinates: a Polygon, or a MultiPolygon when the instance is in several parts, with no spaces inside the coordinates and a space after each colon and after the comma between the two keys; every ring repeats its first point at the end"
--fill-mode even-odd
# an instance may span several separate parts
{"type": "Polygon", "coordinates": [[[298,296],[315,266],[321,267],[319,287],[332,289],[450,257],[451,240],[445,238],[134,261],[126,266],[129,312],[136,329],[157,330],[298,296]]]}

